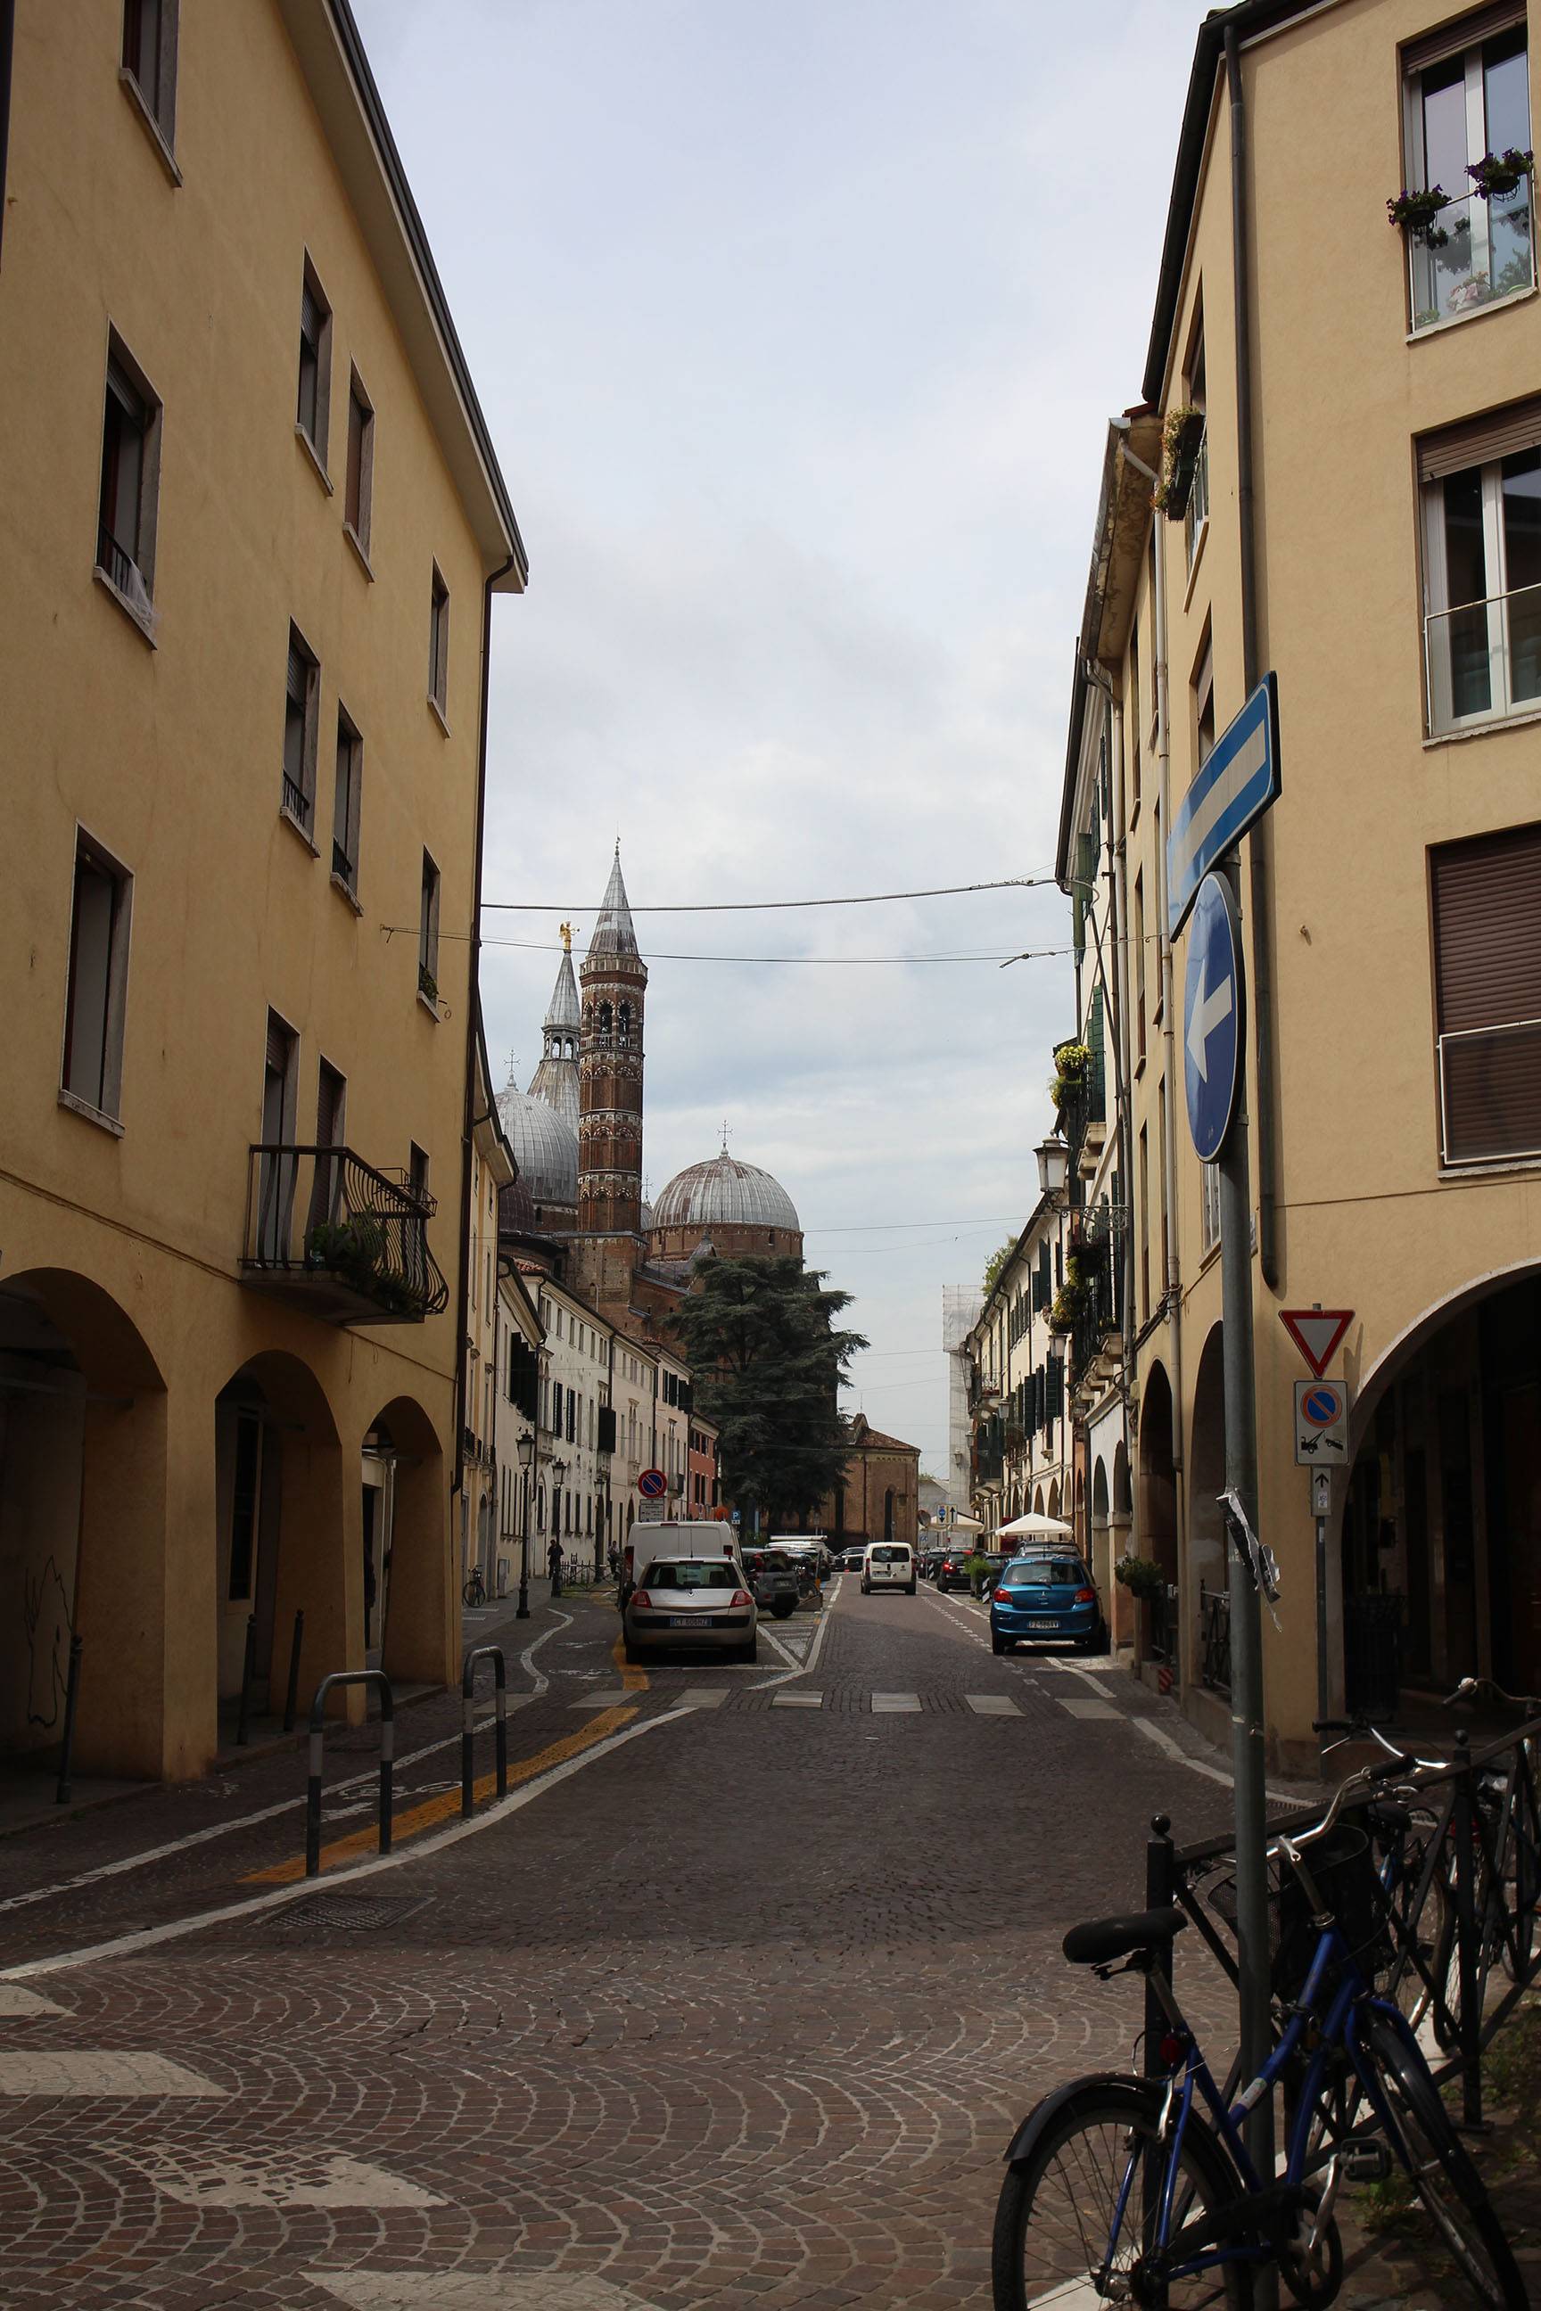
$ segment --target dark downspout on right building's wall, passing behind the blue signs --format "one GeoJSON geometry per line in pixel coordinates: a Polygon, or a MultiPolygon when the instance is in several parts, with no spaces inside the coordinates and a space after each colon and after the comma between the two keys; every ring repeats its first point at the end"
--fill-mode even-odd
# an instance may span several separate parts
{"type": "MultiPolygon", "coordinates": [[[[1248,698],[1259,682],[1257,647],[1257,492],[1252,488],[1252,266],[1248,254],[1248,109],[1241,88],[1236,25],[1224,28],[1224,86],[1231,106],[1231,303],[1236,307],[1236,518],[1241,529],[1241,673],[1248,698]]],[[[1273,1156],[1273,850],[1268,818],[1248,837],[1248,906],[1252,913],[1252,1019],[1257,1068],[1257,1253],[1264,1283],[1278,1292],[1278,1165],[1273,1156]]]]}

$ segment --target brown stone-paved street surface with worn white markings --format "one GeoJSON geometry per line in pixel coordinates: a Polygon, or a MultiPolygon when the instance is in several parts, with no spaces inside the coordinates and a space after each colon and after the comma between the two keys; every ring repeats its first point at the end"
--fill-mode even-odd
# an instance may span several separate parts
{"type": "MultiPolygon", "coordinates": [[[[564,1613],[520,1625],[520,1643],[552,1634],[534,1655],[550,1682],[511,1719],[515,1759],[582,1733],[585,1685],[617,1687],[603,1599],[564,1613]]],[[[1063,1703],[1086,1682],[991,1659],[956,1602],[848,1585],[809,1673],[774,1657],[649,1669],[612,1752],[571,1759],[471,1837],[28,1976],[58,2011],[0,1999],[0,2054],[72,2054],[76,2091],[0,2091],[0,2299],[987,2304],[1014,2119],[1058,2078],[1127,2061],[1139,2027],[1132,1987],[1065,1967],[1060,1934],[1139,1895],[1151,1812],[1199,1837],[1229,1810],[1224,1786],[1130,1736],[1125,1710],[1160,1703],[1100,1682],[1116,1722],[1079,1722],[1063,1703]],[[675,1715],[693,1685],[725,1699],[675,1715]],[[804,1689],[822,1708],[772,1706],[804,1689]],[[873,1712],[885,1692],[922,1708],[873,1712]],[[122,2087],[127,2057],[162,2068],[92,2094],[92,2061],[122,2087]],[[155,2091],[171,2064],[178,2091],[155,2091]]],[[[1160,1722],[1188,1740],[1171,1710],[1160,1722]]],[[[400,1747],[455,1724],[425,1703],[400,1747]]],[[[370,1736],[337,1736],[335,1754],[340,1773],[367,1768],[370,1736]]],[[[104,1867],[136,1837],[171,1842],[222,1805],[284,1805],[300,1770],[261,1761],[233,1796],[155,1793],[5,1840],[0,1895],[104,1867]]],[[[407,1779],[455,1770],[451,1747],[407,1779]]],[[[0,1964],[250,1900],[296,1833],[286,1805],[0,1909],[0,1964]]],[[[1222,2034],[1192,1955],[1181,1976],[1222,2034]]]]}

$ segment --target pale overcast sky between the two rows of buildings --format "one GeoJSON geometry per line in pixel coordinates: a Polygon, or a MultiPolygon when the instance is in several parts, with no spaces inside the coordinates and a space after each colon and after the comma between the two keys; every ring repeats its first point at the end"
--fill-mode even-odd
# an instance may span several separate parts
{"type": "MultiPolygon", "coordinates": [[[[730,1149],[855,1294],[945,1474],[940,1292],[1037,1192],[1047,890],[645,906],[1054,864],[1107,418],[1139,400],[1199,9],[353,0],[529,548],[494,610],[485,899],[621,841],[647,1176],[730,1149]],[[970,952],[970,961],[857,957],[970,952]],[[714,961],[682,957],[781,957],[714,961]]],[[[557,915],[487,915],[499,1084],[557,915]]]]}

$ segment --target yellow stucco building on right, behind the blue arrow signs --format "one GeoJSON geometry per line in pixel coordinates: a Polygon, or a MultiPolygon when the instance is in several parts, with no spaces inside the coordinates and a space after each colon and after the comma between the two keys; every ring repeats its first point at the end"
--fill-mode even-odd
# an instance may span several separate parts
{"type": "Polygon", "coordinates": [[[1285,1574],[1268,1726],[1301,1761],[1308,1368],[1280,1308],[1354,1310],[1331,1708],[1467,1671],[1541,1687],[1541,303],[1534,190],[1504,162],[1532,109],[1523,5],[1206,18],[1144,397],[1102,478],[1060,876],[1111,915],[1132,1546],[1181,1590],[1174,1666],[1215,1733],[1218,1197],[1185,1123],[1167,834],[1278,677],[1282,795],[1241,857],[1245,1132],[1259,1518],[1285,1574]],[[1389,229],[1402,187],[1425,224],[1389,229]]]}

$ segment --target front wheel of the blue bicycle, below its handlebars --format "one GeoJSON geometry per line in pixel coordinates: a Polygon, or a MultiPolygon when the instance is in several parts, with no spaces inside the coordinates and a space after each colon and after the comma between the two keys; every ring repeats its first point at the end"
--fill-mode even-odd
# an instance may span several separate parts
{"type": "Polygon", "coordinates": [[[1391,2154],[1423,2200],[1423,2212],[1444,2239],[1476,2299],[1497,2311],[1525,2311],[1529,2295],[1504,2225],[1472,2156],[1456,2133],[1428,2075],[1428,2064],[1386,2015],[1365,2029],[1365,2091],[1377,2105],[1391,2154]]]}

